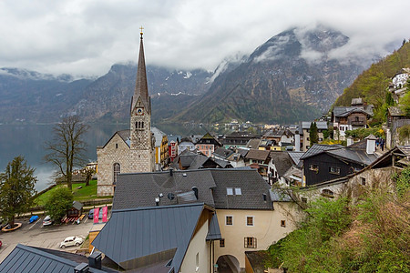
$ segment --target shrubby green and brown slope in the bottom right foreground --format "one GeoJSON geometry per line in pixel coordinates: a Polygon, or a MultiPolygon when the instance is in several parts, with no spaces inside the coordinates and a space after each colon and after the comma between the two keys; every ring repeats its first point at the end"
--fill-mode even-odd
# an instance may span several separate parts
{"type": "MultiPolygon", "coordinates": [[[[382,183],[380,183],[382,184],[382,183]]],[[[410,167],[395,192],[373,188],[356,202],[322,197],[300,228],[269,248],[266,266],[288,272],[410,272],[410,167]]]]}

